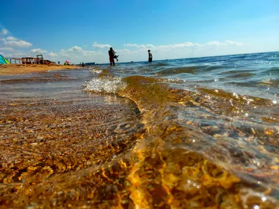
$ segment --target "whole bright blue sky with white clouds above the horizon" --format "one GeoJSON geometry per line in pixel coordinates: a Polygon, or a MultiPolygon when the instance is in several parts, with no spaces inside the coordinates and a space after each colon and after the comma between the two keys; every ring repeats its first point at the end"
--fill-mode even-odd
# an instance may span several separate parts
{"type": "Polygon", "coordinates": [[[279,0],[9,0],[0,54],[108,63],[279,50],[279,0]]]}

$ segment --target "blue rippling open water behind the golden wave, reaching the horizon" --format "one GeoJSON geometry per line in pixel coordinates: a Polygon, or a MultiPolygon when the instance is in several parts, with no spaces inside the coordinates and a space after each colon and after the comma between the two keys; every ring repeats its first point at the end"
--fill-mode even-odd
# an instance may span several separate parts
{"type": "Polygon", "coordinates": [[[120,63],[115,68],[104,69],[112,69],[116,77],[142,75],[165,79],[165,83],[174,83],[182,89],[221,88],[233,93],[276,99],[278,56],[278,52],[211,56],[153,63],[120,63]]]}

